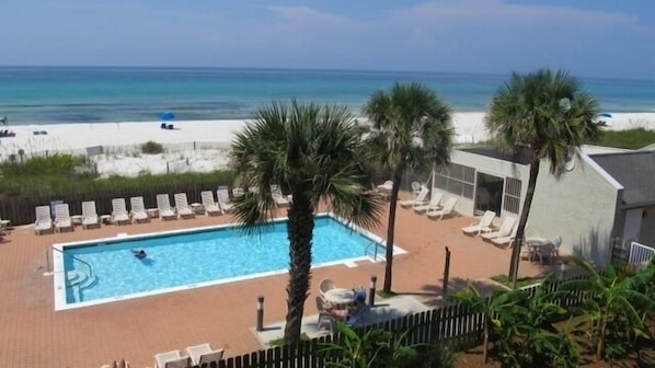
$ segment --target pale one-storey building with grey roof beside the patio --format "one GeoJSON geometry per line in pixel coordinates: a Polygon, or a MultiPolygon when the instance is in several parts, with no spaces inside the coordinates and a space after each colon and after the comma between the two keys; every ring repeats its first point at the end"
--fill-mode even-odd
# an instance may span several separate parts
{"type": "MultiPolygon", "coordinates": [[[[458,196],[457,210],[518,218],[527,193],[528,157],[489,148],[452,152],[434,186],[458,196]]],[[[617,241],[655,245],[655,151],[585,146],[551,172],[541,162],[527,235],[562,237],[562,253],[606,264],[617,241]]]]}

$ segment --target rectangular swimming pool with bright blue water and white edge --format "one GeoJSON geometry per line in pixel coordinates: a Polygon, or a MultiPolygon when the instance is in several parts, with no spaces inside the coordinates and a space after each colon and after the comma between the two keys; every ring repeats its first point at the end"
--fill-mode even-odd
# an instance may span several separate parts
{"type": "MultiPolygon", "coordinates": [[[[55,309],[286,273],[288,246],[285,219],[263,228],[258,235],[223,225],[55,244],[61,251],[53,252],[55,309]],[[131,250],[137,249],[148,256],[135,257],[131,250]]],[[[379,237],[329,214],[317,217],[312,267],[354,265],[376,251],[384,253],[379,237]]],[[[404,251],[394,248],[394,253],[404,251]]]]}

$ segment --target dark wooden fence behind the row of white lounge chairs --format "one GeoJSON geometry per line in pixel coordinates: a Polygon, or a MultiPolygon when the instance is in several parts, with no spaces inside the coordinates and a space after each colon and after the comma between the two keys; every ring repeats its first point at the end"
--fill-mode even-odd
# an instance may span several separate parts
{"type": "MultiPolygon", "coordinates": [[[[157,195],[175,193],[186,193],[188,203],[202,203],[200,192],[212,191],[216,192],[219,184],[226,183],[198,183],[193,186],[185,185],[162,185],[160,187],[133,187],[120,189],[116,192],[94,192],[94,193],[79,193],[72,189],[70,193],[57,197],[51,196],[35,196],[35,197],[19,197],[4,198],[0,200],[0,215],[3,219],[11,220],[14,226],[34,223],[36,206],[49,206],[51,202],[61,200],[70,206],[71,215],[82,214],[82,202],[95,200],[95,208],[97,215],[112,214],[112,199],[125,198],[129,206],[129,198],[142,196],[146,208],[157,208],[157,195]]],[[[129,207],[128,207],[129,208],[129,207]]]]}

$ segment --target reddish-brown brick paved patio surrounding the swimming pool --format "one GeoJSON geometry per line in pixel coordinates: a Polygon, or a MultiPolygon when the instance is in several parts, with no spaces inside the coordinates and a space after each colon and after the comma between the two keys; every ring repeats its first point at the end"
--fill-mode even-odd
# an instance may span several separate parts
{"type": "MultiPolygon", "coordinates": [[[[284,212],[280,212],[284,215],[284,212]]],[[[372,231],[386,238],[387,221],[372,231]]],[[[130,226],[34,235],[32,227],[16,228],[0,244],[0,366],[1,367],[100,367],[125,358],[131,367],[151,367],[156,353],[184,349],[209,343],[235,356],[263,348],[253,333],[255,304],[265,296],[265,324],[285,320],[287,276],[257,278],[131,300],[116,301],[56,312],[53,277],[44,276],[46,252],[54,244],[76,240],[115,237],[117,233],[147,233],[161,230],[226,223],[230,216],[159,221],[130,226]]],[[[393,290],[427,307],[439,304],[445,248],[451,253],[450,287],[466,280],[507,272],[509,254],[479,238],[463,235],[468,217],[433,221],[411,210],[398,210],[395,243],[409,253],[398,256],[393,267],[393,290]]],[[[206,262],[211,262],[207,260],[206,262]]],[[[527,261],[521,276],[549,272],[527,261]]],[[[550,266],[555,267],[555,266],[550,266]]],[[[183,269],[181,269],[183,272],[183,269]]],[[[368,286],[371,275],[378,285],[383,263],[359,262],[313,271],[306,315],[317,313],[318,284],[330,277],[338,286],[368,286]]]]}

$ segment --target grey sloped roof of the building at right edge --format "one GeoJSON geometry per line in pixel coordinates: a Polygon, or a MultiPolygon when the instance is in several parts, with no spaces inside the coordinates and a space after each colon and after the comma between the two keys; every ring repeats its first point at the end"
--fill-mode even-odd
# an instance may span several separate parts
{"type": "Polygon", "coordinates": [[[604,153],[590,158],[623,185],[625,206],[655,203],[655,151],[604,153]]]}

